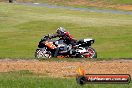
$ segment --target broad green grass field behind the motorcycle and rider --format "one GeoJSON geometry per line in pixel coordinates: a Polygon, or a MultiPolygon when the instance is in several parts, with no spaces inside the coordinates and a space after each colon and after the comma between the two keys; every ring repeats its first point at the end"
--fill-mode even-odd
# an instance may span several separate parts
{"type": "Polygon", "coordinates": [[[132,15],[0,3],[0,58],[34,58],[41,37],[59,26],[94,38],[98,58],[132,57],[132,15]]]}

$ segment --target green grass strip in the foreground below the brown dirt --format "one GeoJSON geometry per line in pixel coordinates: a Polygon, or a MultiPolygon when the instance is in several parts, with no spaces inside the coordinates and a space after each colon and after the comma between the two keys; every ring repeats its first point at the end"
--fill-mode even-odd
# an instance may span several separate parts
{"type": "Polygon", "coordinates": [[[0,88],[131,88],[130,84],[79,85],[76,78],[54,78],[33,74],[27,70],[0,73],[0,88]]]}

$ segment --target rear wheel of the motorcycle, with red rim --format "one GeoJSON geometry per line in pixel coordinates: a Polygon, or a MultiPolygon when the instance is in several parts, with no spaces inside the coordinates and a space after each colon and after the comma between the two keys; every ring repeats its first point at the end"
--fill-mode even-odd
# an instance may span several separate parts
{"type": "Polygon", "coordinates": [[[86,51],[87,52],[83,54],[85,58],[97,58],[97,52],[92,47],[87,47],[86,51]]]}

